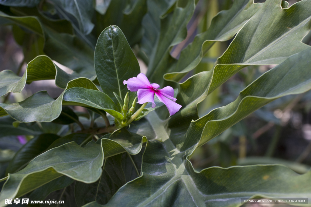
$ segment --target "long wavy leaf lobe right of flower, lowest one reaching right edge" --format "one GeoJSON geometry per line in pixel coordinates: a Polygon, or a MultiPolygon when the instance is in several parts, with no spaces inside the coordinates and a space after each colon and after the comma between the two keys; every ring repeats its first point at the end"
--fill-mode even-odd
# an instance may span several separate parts
{"type": "Polygon", "coordinates": [[[267,103],[310,90],[310,56],[311,48],[290,56],[241,91],[234,102],[193,121],[187,132],[187,136],[191,136],[187,142],[197,142],[201,137],[202,145],[267,103]]]}

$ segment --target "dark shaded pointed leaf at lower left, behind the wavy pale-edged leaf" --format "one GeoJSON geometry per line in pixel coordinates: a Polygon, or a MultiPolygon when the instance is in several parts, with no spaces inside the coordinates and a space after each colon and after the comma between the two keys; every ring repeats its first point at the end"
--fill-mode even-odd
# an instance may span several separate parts
{"type": "Polygon", "coordinates": [[[46,150],[49,145],[58,138],[59,136],[55,134],[41,134],[38,137],[30,139],[19,151],[16,152],[7,167],[6,174],[16,173],[26,167],[31,159],[46,150]]]}

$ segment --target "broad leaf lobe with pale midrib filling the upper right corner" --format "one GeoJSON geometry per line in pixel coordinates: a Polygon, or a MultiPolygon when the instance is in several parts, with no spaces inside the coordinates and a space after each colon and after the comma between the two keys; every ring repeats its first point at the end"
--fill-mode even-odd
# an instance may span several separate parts
{"type": "Polygon", "coordinates": [[[310,11],[310,0],[287,9],[281,8],[281,1],[266,1],[216,61],[208,92],[247,65],[280,64],[310,48],[301,42],[311,28],[310,11]]]}

